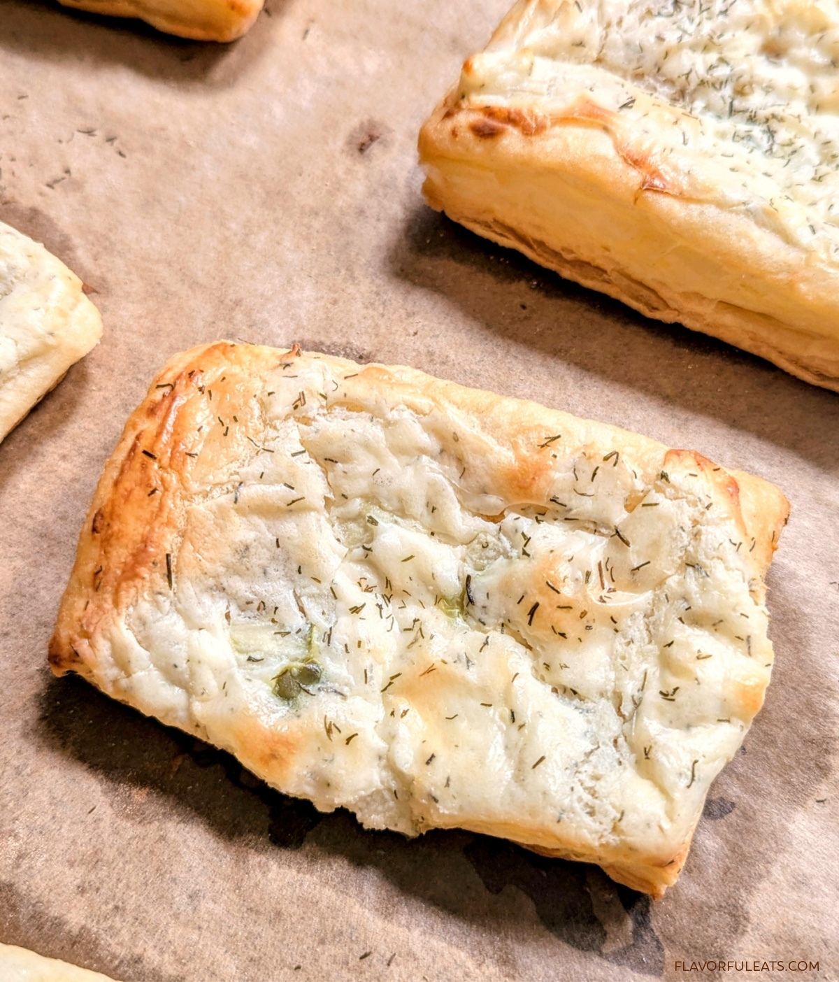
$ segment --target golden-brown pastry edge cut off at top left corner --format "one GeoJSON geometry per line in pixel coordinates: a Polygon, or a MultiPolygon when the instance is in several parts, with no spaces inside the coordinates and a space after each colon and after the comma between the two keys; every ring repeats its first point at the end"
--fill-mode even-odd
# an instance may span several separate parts
{"type": "Polygon", "coordinates": [[[110,17],[134,17],[167,34],[196,41],[235,41],[265,0],[59,0],[65,7],[110,17]]]}

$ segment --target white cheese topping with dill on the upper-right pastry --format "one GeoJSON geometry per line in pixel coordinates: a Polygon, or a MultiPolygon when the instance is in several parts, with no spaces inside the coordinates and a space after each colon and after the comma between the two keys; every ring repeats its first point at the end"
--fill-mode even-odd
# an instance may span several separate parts
{"type": "Polygon", "coordinates": [[[655,139],[686,192],[835,256],[837,64],[836,0],[523,0],[459,93],[546,112],[584,93],[655,139]]]}

